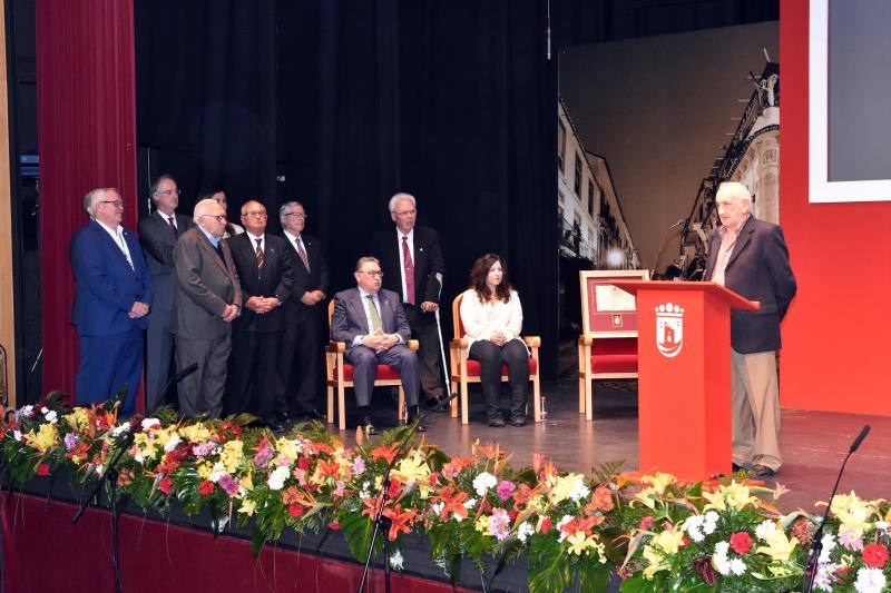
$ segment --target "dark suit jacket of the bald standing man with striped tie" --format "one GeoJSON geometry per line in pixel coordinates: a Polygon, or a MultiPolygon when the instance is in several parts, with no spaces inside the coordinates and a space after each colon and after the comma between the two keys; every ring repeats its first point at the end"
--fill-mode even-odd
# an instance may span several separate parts
{"type": "MultiPolygon", "coordinates": [[[[238,271],[238,280],[242,284],[242,303],[247,303],[252,296],[274,296],[282,304],[287,302],[291,296],[294,268],[292,249],[287,248],[287,241],[268,233],[264,235],[262,273],[257,271],[256,244],[247,233],[229,237],[225,243],[232,250],[232,259],[238,271]]],[[[281,306],[264,315],[257,315],[244,307],[242,315],[233,323],[235,324],[234,328],[241,332],[282,332],[284,329],[283,317],[281,306]]]]}

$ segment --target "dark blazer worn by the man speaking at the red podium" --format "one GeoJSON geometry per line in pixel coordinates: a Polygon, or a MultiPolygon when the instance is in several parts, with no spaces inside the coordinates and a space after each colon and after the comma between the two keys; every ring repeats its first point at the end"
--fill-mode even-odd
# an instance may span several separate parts
{"type": "MultiPolygon", "coordinates": [[[[715,229],[708,237],[708,261],[703,276],[706,280],[714,275],[719,248],[721,235],[715,229]]],[[[780,322],[797,289],[783,229],[750,216],[727,260],[724,286],[761,303],[758,310],[731,312],[733,349],[741,354],[779,349],[780,322]]]]}

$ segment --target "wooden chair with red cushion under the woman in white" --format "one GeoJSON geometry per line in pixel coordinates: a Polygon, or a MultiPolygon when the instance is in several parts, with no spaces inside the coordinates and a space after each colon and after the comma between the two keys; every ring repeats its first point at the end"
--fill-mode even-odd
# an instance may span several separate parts
{"type": "MultiPolygon", "coordinates": [[[[461,323],[461,298],[463,293],[454,297],[452,302],[452,328],[456,336],[464,335],[464,326],[461,323]]],[[[531,356],[529,357],[529,380],[532,383],[532,409],[536,422],[541,422],[541,389],[539,380],[539,362],[538,349],[541,347],[541,337],[526,336],[522,337],[526,346],[529,348],[531,356]]],[[[464,337],[456,337],[449,344],[449,358],[450,360],[450,376],[452,382],[452,393],[461,387],[461,424],[467,424],[468,421],[468,385],[470,383],[480,382],[480,363],[479,360],[471,360],[468,358],[468,350],[470,346],[468,339],[464,337]]],[[[501,365],[501,382],[508,380],[508,367],[501,365]]],[[[452,399],[451,404],[452,417],[458,416],[458,399],[452,399]]]]}

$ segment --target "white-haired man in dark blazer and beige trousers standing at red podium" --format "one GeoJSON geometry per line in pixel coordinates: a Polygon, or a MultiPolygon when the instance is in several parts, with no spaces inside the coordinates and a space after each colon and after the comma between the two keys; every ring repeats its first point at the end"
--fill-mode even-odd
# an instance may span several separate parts
{"type": "Polygon", "coordinates": [[[722,226],[708,237],[705,279],[750,300],[758,310],[731,312],[731,387],[734,468],[770,477],[780,457],[780,322],[795,296],[783,230],[752,216],[742,184],[722,184],[715,198],[722,226]]]}

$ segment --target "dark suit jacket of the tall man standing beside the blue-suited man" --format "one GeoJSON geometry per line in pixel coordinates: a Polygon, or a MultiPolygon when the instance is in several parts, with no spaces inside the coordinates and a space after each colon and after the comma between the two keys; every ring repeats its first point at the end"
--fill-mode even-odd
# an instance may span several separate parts
{"type": "MultiPolygon", "coordinates": [[[[195,224],[192,218],[176,215],[178,236],[190,229],[195,224]]],[[[170,231],[167,219],[158,210],[148,218],[143,218],[136,226],[139,243],[145,250],[148,269],[151,271],[151,281],[155,286],[155,303],[151,313],[170,312],[174,308],[174,245],[176,237],[170,231]]]]}

